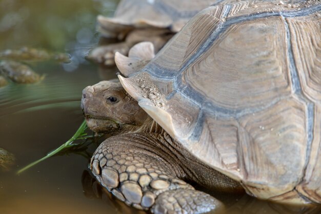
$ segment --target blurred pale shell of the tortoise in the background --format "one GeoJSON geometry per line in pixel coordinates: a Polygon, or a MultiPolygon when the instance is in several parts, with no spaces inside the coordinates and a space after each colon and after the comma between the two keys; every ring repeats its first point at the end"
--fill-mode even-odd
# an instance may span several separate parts
{"type": "Polygon", "coordinates": [[[97,17],[98,28],[107,37],[144,27],[178,32],[200,10],[232,1],[236,0],[122,0],[113,17],[97,17]]]}

